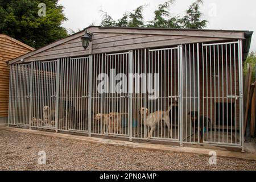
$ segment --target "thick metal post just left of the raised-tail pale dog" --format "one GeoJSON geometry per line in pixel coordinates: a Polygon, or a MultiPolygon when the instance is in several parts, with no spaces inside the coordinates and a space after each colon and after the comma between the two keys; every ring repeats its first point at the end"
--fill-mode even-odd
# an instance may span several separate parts
{"type": "MultiPolygon", "coordinates": [[[[133,51],[129,51],[129,73],[133,73],[133,51]]],[[[133,77],[131,77],[133,78],[133,77]]],[[[128,101],[128,115],[129,115],[129,119],[128,119],[128,122],[129,122],[129,140],[133,140],[133,79],[129,80],[129,87],[132,87],[132,88],[129,88],[129,90],[131,90],[131,92],[128,93],[128,96],[129,96],[129,101],[128,101]]]]}

